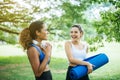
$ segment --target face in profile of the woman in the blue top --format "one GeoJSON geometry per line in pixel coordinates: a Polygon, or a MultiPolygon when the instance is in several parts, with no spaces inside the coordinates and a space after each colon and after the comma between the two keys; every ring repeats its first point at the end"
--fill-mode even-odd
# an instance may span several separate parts
{"type": "Polygon", "coordinates": [[[43,28],[39,32],[38,38],[40,40],[47,40],[47,37],[48,37],[47,27],[45,25],[43,25],[43,28]]]}

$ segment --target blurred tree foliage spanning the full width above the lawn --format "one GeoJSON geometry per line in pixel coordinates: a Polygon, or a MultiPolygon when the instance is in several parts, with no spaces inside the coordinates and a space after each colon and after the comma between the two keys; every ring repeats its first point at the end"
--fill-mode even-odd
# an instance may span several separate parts
{"type": "MultiPolygon", "coordinates": [[[[22,2],[19,3],[12,0],[1,1],[0,40],[10,44],[17,43],[16,39],[20,31],[24,27],[28,27],[29,23],[37,18],[44,20],[47,24],[48,31],[50,32],[49,40],[70,39],[70,27],[73,24],[80,24],[85,32],[84,39],[92,46],[96,45],[96,43],[100,44],[98,46],[102,46],[103,40],[120,42],[119,0],[55,0],[54,2],[49,0],[44,2],[48,5],[45,8],[41,8],[40,4],[42,2],[39,0],[23,1],[24,4],[30,7],[28,8],[21,5],[22,2]],[[107,6],[111,7],[111,9],[100,13],[101,20],[93,21],[84,17],[85,11],[102,4],[104,5],[103,8],[107,6]],[[38,16],[36,17],[35,15],[38,16]],[[7,37],[5,34],[7,34],[7,37]]],[[[91,49],[96,50],[96,48],[91,49]]]]}

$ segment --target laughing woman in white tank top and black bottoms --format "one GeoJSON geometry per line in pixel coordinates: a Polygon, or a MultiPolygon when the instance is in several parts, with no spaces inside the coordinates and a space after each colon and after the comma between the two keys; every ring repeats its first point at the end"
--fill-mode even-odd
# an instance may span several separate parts
{"type": "MultiPolygon", "coordinates": [[[[65,42],[65,52],[69,61],[66,80],[71,80],[70,70],[77,65],[85,65],[88,68],[88,73],[92,72],[92,64],[83,61],[86,58],[88,47],[81,41],[83,30],[80,25],[73,25],[70,31],[71,40],[65,42]]],[[[78,80],[89,80],[88,75],[83,76],[78,80]]]]}

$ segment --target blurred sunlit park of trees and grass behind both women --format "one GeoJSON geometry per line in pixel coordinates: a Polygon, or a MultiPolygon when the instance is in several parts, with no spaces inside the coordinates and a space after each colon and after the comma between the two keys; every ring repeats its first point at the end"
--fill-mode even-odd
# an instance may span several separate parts
{"type": "Polygon", "coordinates": [[[64,42],[70,40],[73,24],[84,30],[88,56],[106,53],[109,57],[109,63],[92,72],[90,79],[120,80],[119,0],[0,0],[0,80],[34,80],[19,33],[35,20],[43,20],[50,33],[53,80],[65,80],[64,42]]]}

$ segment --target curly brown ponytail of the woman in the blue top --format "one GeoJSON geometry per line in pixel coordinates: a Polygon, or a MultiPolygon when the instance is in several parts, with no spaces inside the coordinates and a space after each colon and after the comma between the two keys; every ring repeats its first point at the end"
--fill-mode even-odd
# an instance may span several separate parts
{"type": "Polygon", "coordinates": [[[32,38],[30,36],[29,28],[25,28],[20,33],[19,43],[22,45],[23,49],[26,50],[30,47],[30,43],[32,43],[32,38]]]}

